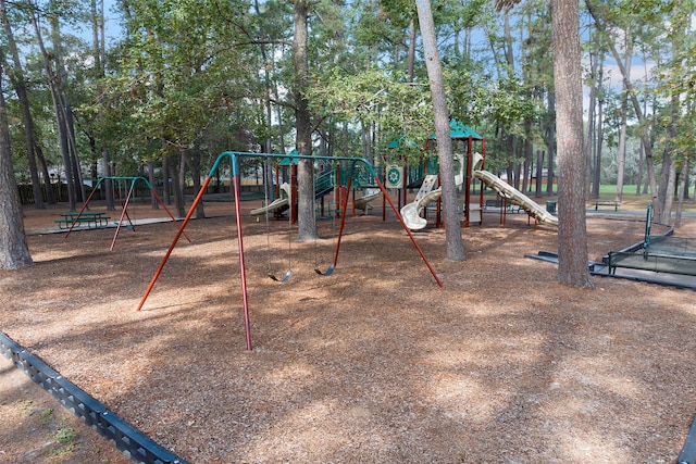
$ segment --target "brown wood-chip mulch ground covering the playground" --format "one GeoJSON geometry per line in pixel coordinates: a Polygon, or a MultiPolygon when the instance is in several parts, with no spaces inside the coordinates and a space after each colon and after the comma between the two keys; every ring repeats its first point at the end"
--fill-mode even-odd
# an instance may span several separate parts
{"type": "MultiPolygon", "coordinates": [[[[297,243],[243,203],[251,352],[232,203],[191,221],[140,312],[175,225],[123,229],[109,251],[113,228],[51,234],[64,205],[27,209],[36,264],[0,271],[0,329],[190,463],[675,461],[696,413],[693,291],[561,286],[555,264],[524,258],[556,251],[556,229],[497,213],[462,229],[464,262],[445,260],[444,229],[415,234],[439,288],[380,203],[347,218],[331,276],[314,268],[338,222],[297,243]]],[[[588,215],[591,259],[642,238],[635,210],[588,215]]],[[[128,462],[13,373],[0,366],[0,462],[128,462]],[[75,447],[55,456],[47,437],[66,424],[75,447]]]]}

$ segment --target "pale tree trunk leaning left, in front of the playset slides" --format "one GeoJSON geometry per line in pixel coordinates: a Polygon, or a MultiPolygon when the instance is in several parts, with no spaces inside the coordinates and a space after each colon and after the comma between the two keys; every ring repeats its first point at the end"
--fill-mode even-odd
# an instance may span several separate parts
{"type": "Polygon", "coordinates": [[[449,134],[449,112],[445,95],[445,79],[437,51],[435,24],[430,0],[417,0],[418,18],[423,39],[423,55],[431,83],[433,113],[435,116],[435,135],[437,137],[437,156],[439,160],[439,178],[443,189],[443,208],[445,212],[445,241],[447,259],[462,261],[465,258],[464,243],[461,239],[461,225],[457,206],[457,186],[455,185],[455,162],[452,159],[452,140],[449,134]]]}

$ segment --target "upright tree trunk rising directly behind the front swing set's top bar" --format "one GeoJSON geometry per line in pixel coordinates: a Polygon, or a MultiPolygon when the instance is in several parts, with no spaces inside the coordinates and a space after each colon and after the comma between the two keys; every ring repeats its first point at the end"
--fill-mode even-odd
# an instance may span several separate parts
{"type": "MultiPolygon", "coordinates": [[[[297,130],[297,152],[302,155],[312,154],[312,126],[306,97],[309,79],[307,18],[307,1],[295,0],[295,37],[293,40],[296,76],[295,128],[297,130]]],[[[313,240],[316,238],[314,167],[311,160],[299,160],[297,167],[297,240],[313,240]]]]}

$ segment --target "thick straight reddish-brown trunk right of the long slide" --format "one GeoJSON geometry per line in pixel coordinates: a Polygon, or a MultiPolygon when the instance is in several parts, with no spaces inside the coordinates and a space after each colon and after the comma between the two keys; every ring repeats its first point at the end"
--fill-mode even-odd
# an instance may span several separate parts
{"type": "Polygon", "coordinates": [[[551,0],[554,84],[558,108],[558,280],[593,287],[587,266],[583,91],[580,61],[580,7],[551,0]]]}

